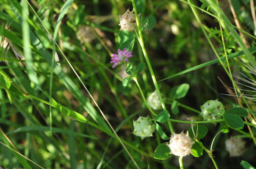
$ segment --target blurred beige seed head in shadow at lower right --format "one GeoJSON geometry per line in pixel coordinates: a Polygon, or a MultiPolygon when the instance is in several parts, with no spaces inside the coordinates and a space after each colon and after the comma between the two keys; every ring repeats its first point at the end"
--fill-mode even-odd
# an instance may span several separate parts
{"type": "Polygon", "coordinates": [[[245,142],[241,137],[230,137],[225,141],[226,150],[230,157],[241,156],[245,151],[245,142]]]}

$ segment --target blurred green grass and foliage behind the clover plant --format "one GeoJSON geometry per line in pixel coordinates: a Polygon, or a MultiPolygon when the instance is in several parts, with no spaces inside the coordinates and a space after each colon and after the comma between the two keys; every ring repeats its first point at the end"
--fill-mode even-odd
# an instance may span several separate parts
{"type": "MultiPolygon", "coordinates": [[[[143,32],[143,38],[157,80],[216,59],[187,1],[142,0],[137,2],[138,11],[142,14],[141,23],[146,18],[149,20],[148,28],[143,32]]],[[[165,142],[156,132],[155,137],[149,137],[143,141],[131,134],[132,119],[137,119],[139,115],[147,116],[149,111],[134,82],[123,87],[122,78],[125,75],[125,67],[111,68],[110,54],[117,53],[120,46],[118,15],[122,15],[128,8],[132,9],[130,1],[74,0],[68,6],[61,20],[60,29],[57,30],[56,42],[60,49],[56,47],[54,53],[58,68],[54,69],[52,85],[52,98],[57,103],[52,102],[55,108],[52,108],[53,134],[50,135],[47,103],[49,102],[52,70],[50,63],[53,39],[51,36],[54,34],[64,3],[65,1],[62,0],[28,0],[29,13],[22,14],[27,1],[0,0],[0,74],[2,77],[0,126],[3,133],[21,154],[44,168],[96,168],[97,166],[135,168],[119,141],[116,138],[112,139],[105,122],[101,123],[99,120],[103,121],[103,118],[63,57],[61,50],[114,129],[119,128],[118,136],[126,141],[125,145],[138,165],[141,168],[179,168],[178,158],[174,156],[162,161],[153,158],[157,145],[165,142]],[[28,41],[24,39],[24,36],[28,36],[28,32],[27,34],[22,32],[24,31],[24,25],[22,25],[24,16],[28,17],[29,29],[27,31],[30,31],[28,41]],[[24,45],[24,41],[31,43],[31,46],[28,43],[24,45]],[[31,62],[29,62],[28,55],[24,56],[23,49],[26,47],[31,48],[33,59],[31,62]],[[26,67],[29,63],[33,64],[32,69],[26,67]],[[29,71],[33,70],[37,75],[35,79],[29,76],[31,73],[29,71]],[[35,84],[34,80],[38,80],[38,84],[35,84]],[[85,101],[85,98],[88,101],[85,101]],[[71,110],[75,113],[71,113],[74,116],[70,117],[71,110]],[[76,112],[83,115],[79,117],[80,121],[77,121],[79,118],[76,112]]],[[[201,9],[212,12],[204,0],[194,1],[194,3],[201,9]]],[[[255,36],[250,0],[232,0],[231,3],[241,29],[255,36]]],[[[226,0],[219,1],[219,4],[231,23],[236,25],[234,15],[230,10],[231,4],[226,0]]],[[[214,47],[221,57],[224,56],[217,19],[199,10],[198,13],[214,47]]],[[[224,37],[228,54],[241,51],[227,28],[224,29],[224,37]]],[[[249,47],[255,46],[255,39],[251,36],[245,34],[245,39],[249,47]]],[[[254,79],[244,71],[244,65],[239,60],[248,63],[244,55],[230,60],[232,74],[241,76],[240,73],[244,73],[254,79]]],[[[145,62],[136,39],[133,57],[129,61],[134,65],[145,62]]],[[[232,86],[229,77],[219,63],[159,82],[169,112],[172,112],[171,88],[183,83],[190,85],[188,94],[178,99],[179,113],[171,113],[171,118],[187,120],[186,117],[193,117],[196,121],[202,121],[202,117],[186,106],[200,111],[200,105],[206,100],[217,98],[227,109],[234,107],[236,102],[231,96],[221,95],[228,93],[218,77],[227,86],[232,86]]],[[[143,70],[139,80],[144,94],[148,95],[155,90],[147,67],[143,70]]],[[[239,79],[235,80],[243,83],[239,79]]],[[[239,87],[244,88],[242,85],[239,87]]],[[[251,93],[253,91],[246,92],[246,94],[251,93]]],[[[254,110],[253,101],[248,102],[254,110]]],[[[212,139],[220,126],[219,124],[216,126],[205,124],[205,126],[209,131],[202,142],[210,148],[212,139]]],[[[186,131],[189,127],[188,124],[173,123],[176,133],[186,131]]],[[[168,133],[167,125],[162,128],[168,133]]],[[[244,131],[248,132],[248,129],[244,127],[244,131]]],[[[254,128],[253,132],[255,133],[254,128]]],[[[256,165],[255,145],[250,138],[244,138],[247,150],[241,157],[229,157],[228,152],[225,151],[224,142],[231,135],[239,135],[239,132],[230,130],[228,134],[218,135],[214,141],[213,154],[217,165],[220,168],[237,168],[241,160],[256,165]]],[[[2,141],[3,139],[2,137],[2,141]]],[[[15,168],[21,167],[12,151],[4,145],[0,145],[0,161],[3,168],[13,168],[13,165],[15,168]]],[[[214,167],[206,153],[200,158],[189,155],[184,158],[183,163],[185,168],[214,167]]],[[[32,168],[38,168],[31,162],[28,164],[32,168]]]]}

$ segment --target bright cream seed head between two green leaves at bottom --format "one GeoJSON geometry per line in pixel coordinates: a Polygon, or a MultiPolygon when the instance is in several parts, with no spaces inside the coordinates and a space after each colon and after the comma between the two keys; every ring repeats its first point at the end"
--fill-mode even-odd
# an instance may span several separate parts
{"type": "Polygon", "coordinates": [[[180,156],[180,158],[192,153],[192,145],[194,142],[188,135],[188,131],[186,134],[181,132],[180,134],[175,134],[171,136],[170,144],[167,144],[170,148],[170,154],[175,156],[180,156]]]}

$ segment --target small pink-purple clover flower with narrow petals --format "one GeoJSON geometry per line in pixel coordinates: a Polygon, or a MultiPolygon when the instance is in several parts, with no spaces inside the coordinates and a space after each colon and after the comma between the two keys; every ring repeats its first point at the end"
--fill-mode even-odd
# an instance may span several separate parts
{"type": "Polygon", "coordinates": [[[119,64],[121,64],[123,62],[128,62],[128,58],[132,57],[132,51],[129,52],[126,49],[127,48],[124,48],[123,51],[118,49],[118,53],[117,54],[112,54],[111,55],[111,56],[114,56],[114,57],[111,58],[111,61],[110,61],[110,63],[114,63],[112,68],[116,67],[117,65],[119,65],[119,64]]]}

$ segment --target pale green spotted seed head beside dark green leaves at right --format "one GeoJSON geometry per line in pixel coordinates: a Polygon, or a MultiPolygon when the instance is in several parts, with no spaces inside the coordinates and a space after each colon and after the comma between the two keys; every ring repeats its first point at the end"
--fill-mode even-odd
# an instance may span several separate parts
{"type": "Polygon", "coordinates": [[[204,121],[217,120],[224,114],[225,108],[221,102],[216,100],[208,100],[201,106],[200,115],[204,118],[204,121]]]}

